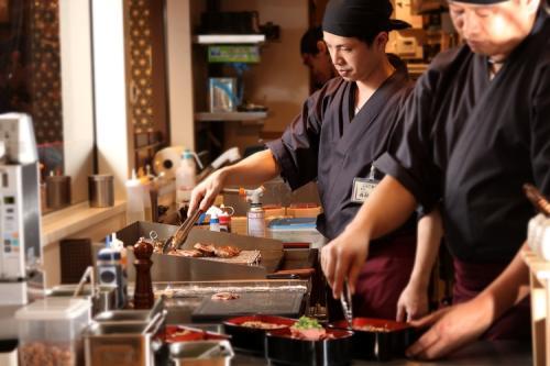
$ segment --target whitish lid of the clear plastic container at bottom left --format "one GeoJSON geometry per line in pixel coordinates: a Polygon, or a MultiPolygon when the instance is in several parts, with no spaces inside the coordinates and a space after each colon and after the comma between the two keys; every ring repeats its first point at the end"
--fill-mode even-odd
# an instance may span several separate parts
{"type": "Polygon", "coordinates": [[[46,298],[36,300],[15,312],[18,320],[70,320],[89,311],[90,302],[74,298],[46,298]]]}

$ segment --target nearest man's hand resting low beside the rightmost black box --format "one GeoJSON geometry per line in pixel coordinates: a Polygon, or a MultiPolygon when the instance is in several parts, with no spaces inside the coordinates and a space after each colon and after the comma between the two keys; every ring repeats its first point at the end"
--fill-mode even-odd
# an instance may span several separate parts
{"type": "Polygon", "coordinates": [[[491,308],[490,302],[476,297],[413,321],[414,326],[431,328],[407,350],[407,356],[420,359],[440,358],[477,340],[491,325],[491,308]]]}

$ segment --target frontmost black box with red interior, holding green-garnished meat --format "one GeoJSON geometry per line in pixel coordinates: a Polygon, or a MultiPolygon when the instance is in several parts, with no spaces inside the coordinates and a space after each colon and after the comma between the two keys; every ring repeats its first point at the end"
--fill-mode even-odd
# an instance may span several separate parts
{"type": "Polygon", "coordinates": [[[332,339],[321,341],[297,340],[290,329],[270,331],[265,335],[265,357],[270,364],[300,366],[340,366],[351,362],[350,331],[328,329],[332,339]]]}

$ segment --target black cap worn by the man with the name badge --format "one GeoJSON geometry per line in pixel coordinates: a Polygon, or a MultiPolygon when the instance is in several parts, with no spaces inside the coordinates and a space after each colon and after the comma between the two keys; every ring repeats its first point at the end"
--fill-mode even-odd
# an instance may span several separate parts
{"type": "Polygon", "coordinates": [[[389,0],[330,0],[324,10],[322,30],[354,37],[410,27],[407,22],[389,19],[393,10],[389,0]]]}

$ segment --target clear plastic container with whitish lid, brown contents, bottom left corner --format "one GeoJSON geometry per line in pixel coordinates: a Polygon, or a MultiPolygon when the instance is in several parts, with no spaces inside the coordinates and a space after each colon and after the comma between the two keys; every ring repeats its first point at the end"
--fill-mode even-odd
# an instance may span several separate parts
{"type": "Polygon", "coordinates": [[[81,334],[90,321],[90,302],[46,298],[15,312],[22,366],[80,365],[81,334]]]}

